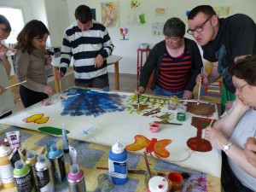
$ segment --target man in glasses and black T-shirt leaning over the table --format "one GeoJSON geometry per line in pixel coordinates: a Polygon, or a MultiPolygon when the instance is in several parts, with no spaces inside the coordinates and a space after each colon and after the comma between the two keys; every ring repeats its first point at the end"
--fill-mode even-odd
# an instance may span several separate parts
{"type": "Polygon", "coordinates": [[[212,62],[209,76],[199,74],[196,82],[207,85],[223,76],[221,108],[230,108],[235,96],[228,68],[237,60],[256,53],[256,25],[247,15],[236,14],[219,19],[209,5],[200,5],[189,12],[188,33],[203,49],[203,58],[212,62]],[[226,105],[226,106],[225,106],[226,105]]]}

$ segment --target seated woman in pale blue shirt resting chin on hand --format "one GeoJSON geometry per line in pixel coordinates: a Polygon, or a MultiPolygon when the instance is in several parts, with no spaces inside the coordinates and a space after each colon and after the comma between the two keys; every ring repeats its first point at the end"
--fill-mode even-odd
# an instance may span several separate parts
{"type": "Polygon", "coordinates": [[[245,143],[256,133],[256,55],[237,61],[228,73],[236,89],[236,102],[213,127],[207,126],[205,136],[223,150],[221,182],[224,191],[255,191],[256,162],[252,163],[255,154],[248,158],[245,143]]]}

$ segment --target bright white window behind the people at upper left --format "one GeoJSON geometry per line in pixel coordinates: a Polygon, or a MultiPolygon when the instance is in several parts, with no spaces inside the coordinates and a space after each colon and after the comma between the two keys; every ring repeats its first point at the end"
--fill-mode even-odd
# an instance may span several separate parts
{"type": "Polygon", "coordinates": [[[22,10],[17,8],[0,7],[1,15],[5,16],[12,27],[9,38],[5,40],[6,44],[15,44],[17,36],[24,26],[22,10]]]}

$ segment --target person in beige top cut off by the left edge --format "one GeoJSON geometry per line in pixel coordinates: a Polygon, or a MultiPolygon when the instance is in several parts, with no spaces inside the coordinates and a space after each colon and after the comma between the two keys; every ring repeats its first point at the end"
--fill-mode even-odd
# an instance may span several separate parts
{"type": "Polygon", "coordinates": [[[0,119],[10,115],[12,108],[15,107],[11,91],[5,89],[5,87],[9,86],[8,76],[11,66],[6,55],[8,49],[2,44],[2,41],[9,37],[10,32],[9,21],[3,15],[0,15],[0,119]]]}

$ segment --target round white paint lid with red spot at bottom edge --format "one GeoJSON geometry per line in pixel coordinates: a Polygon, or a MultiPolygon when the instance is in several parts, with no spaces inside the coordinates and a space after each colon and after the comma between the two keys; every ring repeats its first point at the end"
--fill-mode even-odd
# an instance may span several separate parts
{"type": "Polygon", "coordinates": [[[168,182],[165,177],[154,176],[149,179],[147,192],[167,192],[168,182]]]}

